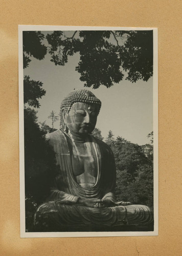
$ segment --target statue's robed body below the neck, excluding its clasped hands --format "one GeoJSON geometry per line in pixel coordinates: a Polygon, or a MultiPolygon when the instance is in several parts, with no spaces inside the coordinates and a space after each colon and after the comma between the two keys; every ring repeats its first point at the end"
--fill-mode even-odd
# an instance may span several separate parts
{"type": "Polygon", "coordinates": [[[79,146],[79,142],[75,143],[61,130],[48,134],[47,139],[56,153],[60,172],[55,177],[50,196],[35,214],[34,223],[38,231],[57,231],[61,225],[119,225],[152,221],[151,211],[144,205],[116,202],[113,207],[92,208],[78,204],[78,198],[115,201],[115,160],[106,143],[89,135],[84,145],[79,146]],[[53,230],[53,226],[57,226],[57,230],[53,230]]]}

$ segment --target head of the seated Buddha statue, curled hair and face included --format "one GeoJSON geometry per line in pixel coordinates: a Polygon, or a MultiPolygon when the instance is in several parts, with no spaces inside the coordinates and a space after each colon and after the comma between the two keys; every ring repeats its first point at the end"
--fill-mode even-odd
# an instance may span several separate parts
{"type": "Polygon", "coordinates": [[[61,103],[61,126],[73,133],[86,135],[96,126],[101,101],[88,90],[74,90],[61,103]]]}

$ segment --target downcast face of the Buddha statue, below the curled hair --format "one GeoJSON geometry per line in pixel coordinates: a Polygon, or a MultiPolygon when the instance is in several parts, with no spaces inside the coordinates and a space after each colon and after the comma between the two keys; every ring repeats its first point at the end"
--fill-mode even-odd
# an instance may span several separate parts
{"type": "Polygon", "coordinates": [[[77,134],[90,134],[97,122],[99,107],[96,104],[77,102],[72,105],[70,112],[65,114],[67,128],[77,134]]]}

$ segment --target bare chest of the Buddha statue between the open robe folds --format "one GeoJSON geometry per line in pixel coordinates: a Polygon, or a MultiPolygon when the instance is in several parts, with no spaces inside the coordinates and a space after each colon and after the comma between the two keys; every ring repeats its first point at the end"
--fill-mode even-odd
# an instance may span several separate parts
{"type": "Polygon", "coordinates": [[[97,151],[92,142],[74,143],[73,173],[79,184],[95,184],[98,175],[97,151]]]}

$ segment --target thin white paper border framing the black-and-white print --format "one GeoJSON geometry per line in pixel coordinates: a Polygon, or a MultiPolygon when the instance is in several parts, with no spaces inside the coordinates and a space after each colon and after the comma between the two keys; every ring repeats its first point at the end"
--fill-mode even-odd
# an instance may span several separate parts
{"type": "Polygon", "coordinates": [[[53,237],[129,237],[158,236],[158,39],[157,28],[138,27],[83,27],[83,26],[18,26],[18,79],[19,79],[19,180],[20,180],[20,238],[53,237]],[[23,31],[74,31],[74,30],[153,30],[153,197],[154,231],[98,231],[98,232],[26,232],[25,225],[25,159],[24,159],[24,72],[23,72],[23,31]]]}

